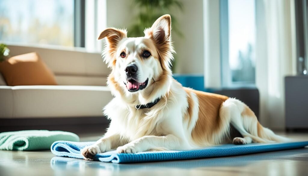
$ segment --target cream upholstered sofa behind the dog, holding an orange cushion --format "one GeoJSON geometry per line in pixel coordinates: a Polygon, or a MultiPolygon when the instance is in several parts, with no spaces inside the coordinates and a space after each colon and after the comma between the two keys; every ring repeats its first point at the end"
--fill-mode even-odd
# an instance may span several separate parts
{"type": "MultiPolygon", "coordinates": [[[[10,56],[37,52],[55,73],[57,86],[6,86],[0,78],[0,118],[102,117],[112,99],[110,70],[99,53],[83,48],[8,45],[10,56]]],[[[1,77],[1,75],[0,75],[1,77]]]]}

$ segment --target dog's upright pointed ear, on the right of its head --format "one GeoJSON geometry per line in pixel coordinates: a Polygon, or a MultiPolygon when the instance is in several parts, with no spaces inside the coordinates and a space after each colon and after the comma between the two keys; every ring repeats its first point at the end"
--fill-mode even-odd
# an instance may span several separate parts
{"type": "Polygon", "coordinates": [[[151,28],[144,31],[146,37],[152,38],[156,43],[170,41],[171,17],[166,14],[158,18],[151,28]]]}

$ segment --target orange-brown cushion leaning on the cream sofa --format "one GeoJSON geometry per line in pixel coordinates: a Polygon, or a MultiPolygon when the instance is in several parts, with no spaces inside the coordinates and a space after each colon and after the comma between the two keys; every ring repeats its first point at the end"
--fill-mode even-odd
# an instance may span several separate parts
{"type": "Polygon", "coordinates": [[[36,52],[17,55],[0,63],[0,72],[9,86],[57,85],[55,75],[36,52]]]}

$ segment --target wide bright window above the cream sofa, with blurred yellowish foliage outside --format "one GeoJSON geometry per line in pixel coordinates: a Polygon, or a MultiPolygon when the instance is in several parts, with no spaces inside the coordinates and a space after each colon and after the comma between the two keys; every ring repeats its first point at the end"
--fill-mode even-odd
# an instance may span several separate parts
{"type": "Polygon", "coordinates": [[[0,40],[74,46],[74,0],[0,0],[0,40]]]}

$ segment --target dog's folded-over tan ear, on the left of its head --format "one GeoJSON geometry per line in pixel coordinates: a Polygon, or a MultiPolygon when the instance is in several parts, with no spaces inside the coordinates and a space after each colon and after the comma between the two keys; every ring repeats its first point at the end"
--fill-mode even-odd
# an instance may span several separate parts
{"type": "Polygon", "coordinates": [[[115,66],[115,54],[119,42],[127,38],[127,31],[116,28],[107,28],[102,33],[100,33],[98,39],[103,39],[106,37],[106,48],[103,51],[104,61],[106,61],[109,68],[115,66]]]}

